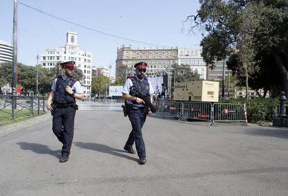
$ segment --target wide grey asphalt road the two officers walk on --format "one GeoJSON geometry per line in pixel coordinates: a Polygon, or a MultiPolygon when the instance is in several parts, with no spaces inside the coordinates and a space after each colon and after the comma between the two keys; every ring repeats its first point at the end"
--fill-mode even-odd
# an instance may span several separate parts
{"type": "Polygon", "coordinates": [[[78,111],[70,160],[51,117],[0,138],[0,195],[288,195],[288,130],[148,117],[147,163],[120,111],[78,111]]]}

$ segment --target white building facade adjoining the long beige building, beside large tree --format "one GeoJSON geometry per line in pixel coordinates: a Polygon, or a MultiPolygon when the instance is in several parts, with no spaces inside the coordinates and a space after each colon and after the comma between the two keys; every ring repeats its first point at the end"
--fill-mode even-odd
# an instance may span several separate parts
{"type": "Polygon", "coordinates": [[[207,66],[202,56],[201,47],[178,48],[178,65],[189,65],[193,72],[198,72],[200,79],[207,79],[207,66]]]}

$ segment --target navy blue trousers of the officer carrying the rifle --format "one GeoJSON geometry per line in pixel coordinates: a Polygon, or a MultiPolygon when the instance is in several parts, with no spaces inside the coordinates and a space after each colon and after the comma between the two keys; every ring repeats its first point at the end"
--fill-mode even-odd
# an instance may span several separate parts
{"type": "Polygon", "coordinates": [[[129,114],[129,120],[132,125],[132,131],[129,134],[125,146],[132,147],[135,141],[137,154],[139,158],[143,158],[146,156],[146,152],[141,129],[143,127],[143,124],[145,123],[146,115],[143,114],[143,111],[141,110],[131,111],[131,113],[129,114]]]}

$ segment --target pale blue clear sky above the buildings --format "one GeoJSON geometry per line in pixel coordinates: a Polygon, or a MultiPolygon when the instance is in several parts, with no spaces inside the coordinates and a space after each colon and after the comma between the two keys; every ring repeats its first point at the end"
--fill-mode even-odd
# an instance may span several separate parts
{"type": "MultiPolygon", "coordinates": [[[[199,6],[198,0],[19,0],[18,62],[36,65],[38,51],[65,46],[67,31],[75,31],[80,49],[92,52],[93,66],[111,63],[113,74],[117,48],[123,44],[134,49],[198,46],[202,32],[189,32],[191,23],[182,21],[199,6]]],[[[0,40],[12,43],[13,0],[0,0],[0,24],[0,40]]]]}

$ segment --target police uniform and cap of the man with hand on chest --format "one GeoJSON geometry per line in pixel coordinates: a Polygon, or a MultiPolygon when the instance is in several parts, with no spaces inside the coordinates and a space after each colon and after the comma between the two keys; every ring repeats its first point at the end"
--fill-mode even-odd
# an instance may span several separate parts
{"type": "MultiPolygon", "coordinates": [[[[74,61],[61,63],[62,67],[74,66],[74,61]]],[[[51,87],[53,90],[53,133],[63,144],[62,157],[68,158],[72,139],[74,135],[74,117],[77,109],[75,98],[65,91],[66,85],[69,85],[74,93],[82,93],[81,85],[75,78],[58,76],[51,87]]]]}

